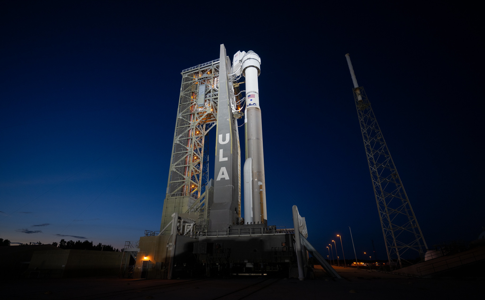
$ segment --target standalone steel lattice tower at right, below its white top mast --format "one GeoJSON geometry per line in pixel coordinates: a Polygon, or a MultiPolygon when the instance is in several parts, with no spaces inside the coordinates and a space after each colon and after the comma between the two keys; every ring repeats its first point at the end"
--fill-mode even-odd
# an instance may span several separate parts
{"type": "Polygon", "coordinates": [[[389,263],[402,267],[404,253],[422,258],[427,245],[364,88],[353,90],[389,263]]]}

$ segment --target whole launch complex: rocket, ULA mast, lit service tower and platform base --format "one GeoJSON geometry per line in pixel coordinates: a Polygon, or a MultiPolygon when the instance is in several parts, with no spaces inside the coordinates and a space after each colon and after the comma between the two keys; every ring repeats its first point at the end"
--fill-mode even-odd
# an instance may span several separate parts
{"type": "Polygon", "coordinates": [[[139,241],[127,242],[124,276],[280,274],[303,280],[312,276],[310,254],[329,277],[339,278],[306,240],[305,218],[296,206],[294,228],[268,225],[258,88],[261,59],[253,51],[238,51],[231,61],[224,45],[219,54],[217,60],[181,72],[162,223],[160,230],[146,230],[139,241]],[[215,137],[213,162],[209,136],[215,137]]]}

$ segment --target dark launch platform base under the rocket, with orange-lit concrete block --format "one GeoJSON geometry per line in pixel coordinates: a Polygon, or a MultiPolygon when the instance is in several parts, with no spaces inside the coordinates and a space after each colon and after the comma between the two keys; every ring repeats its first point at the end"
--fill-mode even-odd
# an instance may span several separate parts
{"type": "MultiPolygon", "coordinates": [[[[133,278],[167,279],[171,268],[172,279],[238,275],[298,277],[292,229],[253,226],[231,226],[197,238],[178,235],[173,259],[171,235],[141,237],[133,278]]],[[[308,264],[307,250],[311,254],[316,251],[302,249],[304,277],[310,279],[313,269],[308,264]]],[[[336,277],[328,271],[331,267],[326,261],[321,265],[329,277],[336,277]]]]}

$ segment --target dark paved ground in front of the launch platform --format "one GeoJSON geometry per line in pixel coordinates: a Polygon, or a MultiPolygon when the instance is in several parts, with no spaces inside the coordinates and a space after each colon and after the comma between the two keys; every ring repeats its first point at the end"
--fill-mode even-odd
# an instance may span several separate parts
{"type": "Polygon", "coordinates": [[[315,280],[242,279],[137,280],[119,278],[23,279],[0,283],[1,299],[470,299],[482,298],[483,280],[417,279],[335,267],[334,281],[316,271],[315,280]]]}

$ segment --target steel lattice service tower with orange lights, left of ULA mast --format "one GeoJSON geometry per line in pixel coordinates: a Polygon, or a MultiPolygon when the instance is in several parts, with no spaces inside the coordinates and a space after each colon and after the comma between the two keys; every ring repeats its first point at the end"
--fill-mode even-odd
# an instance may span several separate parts
{"type": "Polygon", "coordinates": [[[219,60],[186,69],[181,74],[166,198],[190,196],[195,201],[204,192],[209,178],[204,146],[217,120],[219,60]],[[205,89],[199,89],[201,85],[205,89]]]}

